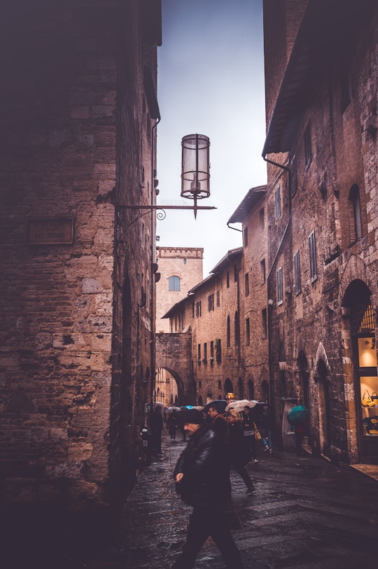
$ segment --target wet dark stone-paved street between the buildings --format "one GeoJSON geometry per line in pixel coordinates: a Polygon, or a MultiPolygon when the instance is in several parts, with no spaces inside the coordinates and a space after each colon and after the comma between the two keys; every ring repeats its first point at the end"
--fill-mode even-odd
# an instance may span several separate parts
{"type": "MultiPolygon", "coordinates": [[[[172,470],[186,443],[164,432],[162,457],[139,475],[124,524],[107,559],[90,569],[169,569],[186,538],[190,507],[176,496],[172,470]]],[[[373,569],[377,567],[378,482],[350,467],[309,455],[260,453],[248,465],[256,493],[232,473],[230,525],[246,569],[373,569]]],[[[77,566],[77,565],[76,565],[77,566]]],[[[71,567],[71,565],[70,565],[71,567]]],[[[221,569],[211,540],[196,568],[221,569]]]]}

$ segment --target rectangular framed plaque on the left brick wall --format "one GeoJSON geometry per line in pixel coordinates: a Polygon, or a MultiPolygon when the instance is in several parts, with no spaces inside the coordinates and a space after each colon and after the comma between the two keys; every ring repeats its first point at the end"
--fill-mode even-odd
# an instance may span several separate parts
{"type": "Polygon", "coordinates": [[[27,218],[26,242],[31,245],[73,244],[73,218],[27,218]]]}

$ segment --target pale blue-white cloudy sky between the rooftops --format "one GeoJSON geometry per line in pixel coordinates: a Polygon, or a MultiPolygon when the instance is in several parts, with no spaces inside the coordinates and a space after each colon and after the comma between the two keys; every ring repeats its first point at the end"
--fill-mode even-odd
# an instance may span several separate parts
{"type": "MultiPolygon", "coordinates": [[[[181,139],[210,139],[214,211],[167,210],[160,246],[204,248],[204,277],[241,233],[227,222],[249,188],[266,183],[262,0],[162,0],[158,48],[158,204],[180,204],[181,139]]],[[[191,204],[185,200],[186,204],[191,204]]]]}

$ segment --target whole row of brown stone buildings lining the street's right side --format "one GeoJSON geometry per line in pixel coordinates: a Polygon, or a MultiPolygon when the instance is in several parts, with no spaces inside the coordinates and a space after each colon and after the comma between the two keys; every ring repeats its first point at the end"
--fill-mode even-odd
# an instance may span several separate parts
{"type": "Polygon", "coordinates": [[[192,327],[197,404],[268,400],[285,447],[302,402],[309,448],[335,462],[378,463],[377,24],[370,0],[264,2],[267,188],[230,218],[243,248],[166,314],[192,327]]]}

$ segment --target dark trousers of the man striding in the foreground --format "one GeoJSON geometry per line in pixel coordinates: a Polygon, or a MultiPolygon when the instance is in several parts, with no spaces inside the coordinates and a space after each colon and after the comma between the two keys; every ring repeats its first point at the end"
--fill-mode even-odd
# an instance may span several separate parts
{"type": "Polygon", "coordinates": [[[191,569],[209,536],[220,549],[227,569],[243,569],[239,549],[232,539],[225,512],[214,505],[194,507],[189,519],[186,544],[172,569],[191,569]]]}

